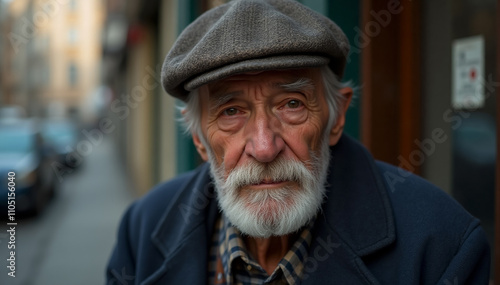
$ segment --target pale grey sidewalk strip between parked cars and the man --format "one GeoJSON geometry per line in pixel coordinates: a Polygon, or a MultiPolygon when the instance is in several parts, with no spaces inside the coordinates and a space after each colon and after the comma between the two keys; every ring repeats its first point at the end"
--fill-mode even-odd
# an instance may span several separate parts
{"type": "Polygon", "coordinates": [[[110,140],[95,149],[84,167],[83,175],[67,185],[68,211],[35,278],[37,285],[105,283],[106,263],[132,191],[110,140]]]}

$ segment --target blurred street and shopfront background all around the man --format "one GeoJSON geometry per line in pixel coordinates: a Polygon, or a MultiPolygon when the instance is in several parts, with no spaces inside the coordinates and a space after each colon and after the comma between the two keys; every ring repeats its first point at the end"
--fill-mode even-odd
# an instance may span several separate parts
{"type": "MultiPolygon", "coordinates": [[[[0,284],[104,283],[126,207],[201,163],[160,71],[183,28],[224,2],[0,0],[0,284]]],[[[500,1],[300,2],[351,42],[345,131],[452,195],[498,249],[500,1]]]]}

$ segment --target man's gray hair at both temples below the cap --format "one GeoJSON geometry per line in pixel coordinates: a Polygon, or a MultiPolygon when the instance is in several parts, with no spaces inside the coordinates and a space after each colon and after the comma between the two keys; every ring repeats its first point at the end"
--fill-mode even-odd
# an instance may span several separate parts
{"type": "MultiPolygon", "coordinates": [[[[339,90],[344,87],[349,87],[350,82],[342,83],[338,80],[337,76],[330,68],[324,66],[321,68],[321,77],[323,79],[323,86],[325,90],[325,97],[328,104],[329,118],[325,132],[329,132],[337,122],[337,117],[342,110],[339,110],[342,103],[346,98],[340,94],[339,90]]],[[[200,138],[201,142],[209,147],[203,132],[201,131],[201,103],[199,97],[199,89],[193,90],[189,93],[186,103],[179,106],[183,113],[181,122],[185,126],[186,133],[195,133],[200,138]]]]}

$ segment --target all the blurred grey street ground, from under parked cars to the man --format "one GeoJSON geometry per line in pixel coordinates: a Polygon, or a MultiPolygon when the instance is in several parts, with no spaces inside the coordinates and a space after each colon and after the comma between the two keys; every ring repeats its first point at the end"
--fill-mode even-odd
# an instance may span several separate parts
{"type": "Polygon", "coordinates": [[[73,174],[39,217],[18,221],[16,277],[7,275],[6,222],[0,226],[0,284],[104,284],[121,215],[133,200],[131,184],[111,138],[73,174]]]}

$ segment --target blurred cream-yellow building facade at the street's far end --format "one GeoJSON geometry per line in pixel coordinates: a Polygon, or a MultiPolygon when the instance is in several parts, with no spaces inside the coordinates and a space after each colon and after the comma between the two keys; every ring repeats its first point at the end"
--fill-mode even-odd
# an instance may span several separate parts
{"type": "Polygon", "coordinates": [[[3,5],[1,103],[23,106],[33,116],[73,112],[92,120],[101,81],[102,1],[3,5]]]}

